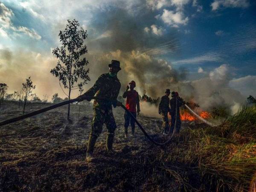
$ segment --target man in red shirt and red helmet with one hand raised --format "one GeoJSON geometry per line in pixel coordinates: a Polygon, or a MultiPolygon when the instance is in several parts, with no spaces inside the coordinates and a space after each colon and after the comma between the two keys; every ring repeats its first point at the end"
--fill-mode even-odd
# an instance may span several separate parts
{"type": "MultiPolygon", "coordinates": [[[[126,91],[123,94],[123,98],[126,98],[126,105],[125,107],[132,113],[134,117],[136,117],[136,106],[137,106],[137,114],[140,113],[140,98],[139,94],[136,90],[134,90],[134,87],[136,87],[135,81],[131,81],[129,83],[129,86],[127,85],[126,91]]],[[[134,135],[134,129],[135,129],[135,120],[131,117],[131,115],[125,111],[125,138],[127,138],[128,134],[128,126],[131,123],[131,135],[134,135]]]]}

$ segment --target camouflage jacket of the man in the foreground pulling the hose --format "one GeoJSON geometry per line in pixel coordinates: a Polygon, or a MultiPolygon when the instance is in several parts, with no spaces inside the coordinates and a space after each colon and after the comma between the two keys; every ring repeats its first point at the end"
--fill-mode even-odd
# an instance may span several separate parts
{"type": "Polygon", "coordinates": [[[121,84],[119,82],[119,79],[117,79],[116,76],[111,77],[109,76],[109,73],[105,73],[99,76],[93,87],[87,90],[84,93],[84,96],[97,96],[99,98],[114,99],[113,102],[97,99],[95,99],[93,102],[93,108],[111,109],[112,105],[114,108],[116,107],[116,98],[119,94],[120,88],[121,84]]]}

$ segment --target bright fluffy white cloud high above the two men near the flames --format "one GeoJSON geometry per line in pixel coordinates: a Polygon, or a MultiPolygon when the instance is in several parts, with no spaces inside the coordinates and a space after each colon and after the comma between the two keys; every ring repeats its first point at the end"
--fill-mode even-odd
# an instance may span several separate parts
{"type": "Polygon", "coordinates": [[[173,12],[167,9],[163,9],[163,15],[161,19],[164,23],[170,26],[179,27],[179,25],[186,25],[189,21],[189,17],[184,18],[183,12],[173,12]]]}

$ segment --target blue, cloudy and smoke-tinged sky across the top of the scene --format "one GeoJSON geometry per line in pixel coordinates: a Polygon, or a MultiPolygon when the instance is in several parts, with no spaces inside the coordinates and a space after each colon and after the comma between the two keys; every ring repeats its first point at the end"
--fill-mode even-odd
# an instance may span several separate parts
{"type": "MultiPolygon", "coordinates": [[[[227,78],[229,87],[244,96],[256,96],[253,0],[2,0],[0,81],[8,81],[10,90],[15,90],[21,79],[32,73],[39,95],[60,91],[58,81],[48,74],[56,62],[51,49],[59,46],[58,32],[64,29],[67,19],[73,18],[88,32],[92,81],[106,69],[97,70],[99,64],[93,63],[112,55],[124,59],[128,74],[124,84],[134,78],[143,89],[150,89],[149,81],[144,82],[131,72],[134,65],[138,67],[136,59],[142,57],[154,59],[163,66],[162,70],[165,65],[170,66],[169,73],[177,81],[210,78],[210,73],[224,66],[227,70],[221,78],[227,78]],[[180,75],[183,71],[186,77],[180,75]],[[10,78],[10,73],[17,78],[10,78]],[[52,84],[55,88],[42,88],[52,84]],[[248,89],[244,88],[248,84],[248,89]]],[[[154,65],[148,67],[154,69],[154,65]]],[[[143,72],[144,78],[152,76],[157,76],[157,71],[143,72]]]]}

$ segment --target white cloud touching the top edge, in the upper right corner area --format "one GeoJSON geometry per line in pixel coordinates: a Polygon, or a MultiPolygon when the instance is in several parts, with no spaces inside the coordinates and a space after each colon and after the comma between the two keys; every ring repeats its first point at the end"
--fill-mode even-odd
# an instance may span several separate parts
{"type": "Polygon", "coordinates": [[[216,11],[221,7],[246,8],[249,6],[249,2],[248,0],[214,0],[214,2],[211,3],[211,6],[212,11],[216,11]]]}

